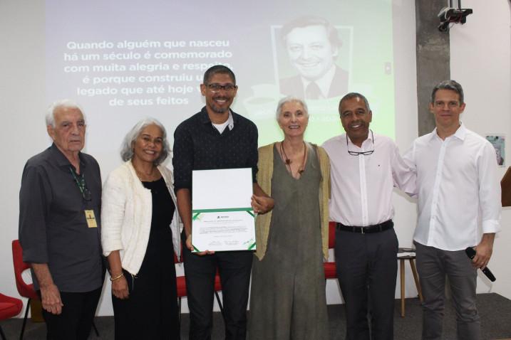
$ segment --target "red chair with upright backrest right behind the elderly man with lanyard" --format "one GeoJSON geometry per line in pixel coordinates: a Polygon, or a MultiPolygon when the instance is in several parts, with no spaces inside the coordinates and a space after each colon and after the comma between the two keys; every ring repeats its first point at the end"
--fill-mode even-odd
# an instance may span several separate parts
{"type": "MultiPolygon", "coordinates": [[[[23,280],[23,277],[21,277],[21,273],[24,272],[24,270],[30,269],[30,265],[26,262],[23,262],[23,248],[21,248],[19,240],[12,241],[12,262],[14,264],[14,279],[16,280],[16,288],[22,297],[29,299],[29,301],[26,302],[25,317],[23,319],[23,326],[21,326],[21,335],[19,336],[19,339],[23,339],[23,334],[25,332],[26,326],[26,318],[29,316],[30,300],[39,299],[39,297],[36,291],[33,289],[33,284],[27,284],[23,280]]],[[[94,324],[94,322],[92,323],[92,326],[96,336],[99,336],[99,331],[96,328],[96,324],[94,324]]]]}

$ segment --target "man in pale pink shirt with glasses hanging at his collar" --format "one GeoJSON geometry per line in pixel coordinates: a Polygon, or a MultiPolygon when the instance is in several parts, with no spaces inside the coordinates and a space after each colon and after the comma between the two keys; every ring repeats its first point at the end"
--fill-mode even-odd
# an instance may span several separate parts
{"type": "Polygon", "coordinates": [[[368,297],[373,338],[393,339],[398,238],[391,203],[394,186],[415,191],[413,172],[392,139],[369,129],[366,97],[339,103],[346,134],[323,144],[331,164],[330,219],[336,222],[337,277],[346,307],[346,339],[368,340],[368,297]]]}

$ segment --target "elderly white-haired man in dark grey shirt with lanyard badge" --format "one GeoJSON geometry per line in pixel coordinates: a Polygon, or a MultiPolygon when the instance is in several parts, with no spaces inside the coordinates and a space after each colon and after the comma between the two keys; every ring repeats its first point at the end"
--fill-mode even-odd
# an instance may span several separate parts
{"type": "Polygon", "coordinates": [[[19,193],[19,240],[41,296],[48,339],[88,338],[103,287],[101,176],[81,153],[86,123],[70,100],[46,115],[51,147],[26,162],[19,193]]]}

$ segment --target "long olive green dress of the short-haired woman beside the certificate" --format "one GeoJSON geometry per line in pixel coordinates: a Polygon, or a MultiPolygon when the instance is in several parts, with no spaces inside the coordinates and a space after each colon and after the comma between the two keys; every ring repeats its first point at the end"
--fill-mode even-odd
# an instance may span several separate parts
{"type": "Polygon", "coordinates": [[[319,182],[314,148],[300,179],[294,179],[274,149],[275,206],[268,248],[252,262],[250,340],[329,339],[321,252],[319,182]]]}

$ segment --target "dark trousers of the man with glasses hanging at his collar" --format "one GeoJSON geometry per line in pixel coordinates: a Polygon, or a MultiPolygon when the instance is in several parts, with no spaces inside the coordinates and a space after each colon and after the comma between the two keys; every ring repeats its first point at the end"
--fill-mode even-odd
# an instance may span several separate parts
{"type": "Polygon", "coordinates": [[[346,308],[347,340],[393,339],[397,253],[393,228],[372,234],[336,230],[336,267],[346,308]]]}

